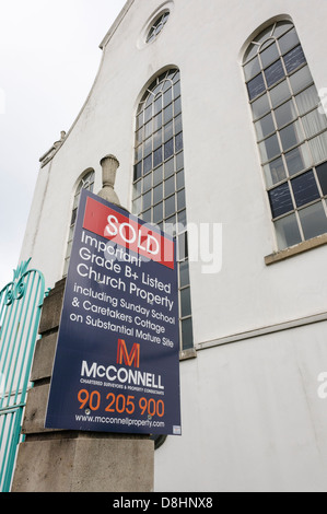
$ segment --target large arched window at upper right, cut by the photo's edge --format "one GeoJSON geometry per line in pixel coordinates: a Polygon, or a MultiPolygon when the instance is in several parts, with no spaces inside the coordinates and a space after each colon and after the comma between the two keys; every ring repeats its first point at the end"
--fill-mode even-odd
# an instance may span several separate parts
{"type": "Polygon", "coordinates": [[[294,25],[248,46],[248,98],[279,249],[327,232],[327,120],[294,25]]]}

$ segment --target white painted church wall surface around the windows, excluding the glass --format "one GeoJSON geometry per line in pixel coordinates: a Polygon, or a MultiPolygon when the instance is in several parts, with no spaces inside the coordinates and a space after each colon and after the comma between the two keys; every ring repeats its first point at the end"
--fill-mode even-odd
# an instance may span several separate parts
{"type": "MultiPolygon", "coordinates": [[[[287,14],[317,87],[326,86],[327,3],[174,0],[162,34],[142,46],[141,32],[161,3],[127,2],[107,35],[93,90],[39,171],[21,258],[32,256],[47,287],[61,278],[74,187],[93,167],[95,192],[101,188],[107,153],[120,162],[116,190],[130,208],[136,107],[144,84],[174,65],[182,73],[188,221],[223,223],[221,272],[203,274],[201,262],[190,268],[195,343],[325,313],[327,246],[265,266],[277,248],[240,62],[254,31],[287,14]]],[[[182,362],[184,434],[156,453],[157,489],[326,488],[326,408],[314,393],[327,366],[325,334],[316,324],[182,362]]]]}

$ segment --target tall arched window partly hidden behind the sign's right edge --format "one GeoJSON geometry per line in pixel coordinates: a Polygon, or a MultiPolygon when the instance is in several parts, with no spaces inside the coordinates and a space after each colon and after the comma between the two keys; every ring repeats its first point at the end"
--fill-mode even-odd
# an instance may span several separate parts
{"type": "Polygon", "coordinates": [[[136,119],[132,212],[177,238],[182,348],[192,347],[179,71],[157,77],[136,119]]]}

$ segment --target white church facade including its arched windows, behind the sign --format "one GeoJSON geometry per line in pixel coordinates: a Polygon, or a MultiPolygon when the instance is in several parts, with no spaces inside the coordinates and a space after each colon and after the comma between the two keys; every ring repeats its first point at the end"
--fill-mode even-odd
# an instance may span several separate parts
{"type": "Polygon", "coordinates": [[[155,451],[156,491],[327,489],[326,17],[324,0],[128,0],[42,157],[21,258],[47,287],[108,153],[121,205],[184,250],[188,233],[183,435],[155,451]]]}

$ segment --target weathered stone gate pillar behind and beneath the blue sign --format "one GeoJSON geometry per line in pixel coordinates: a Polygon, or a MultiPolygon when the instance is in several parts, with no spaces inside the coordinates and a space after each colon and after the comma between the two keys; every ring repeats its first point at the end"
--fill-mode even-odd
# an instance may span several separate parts
{"type": "Polygon", "coordinates": [[[154,447],[147,435],[44,428],[65,282],[44,302],[12,492],[151,492],[154,447]]]}

